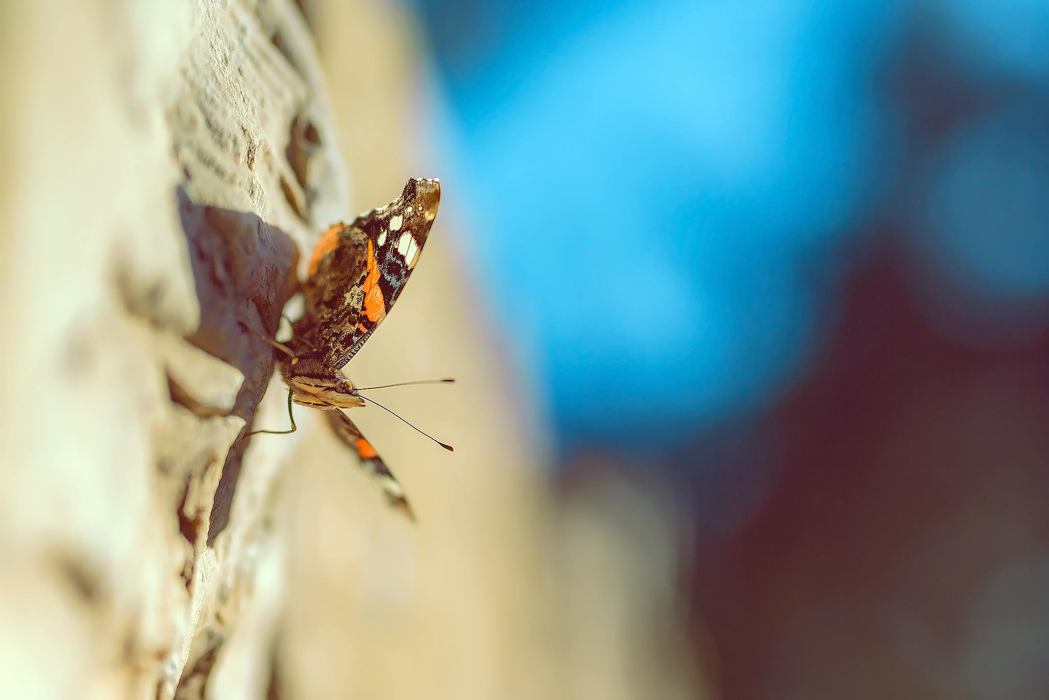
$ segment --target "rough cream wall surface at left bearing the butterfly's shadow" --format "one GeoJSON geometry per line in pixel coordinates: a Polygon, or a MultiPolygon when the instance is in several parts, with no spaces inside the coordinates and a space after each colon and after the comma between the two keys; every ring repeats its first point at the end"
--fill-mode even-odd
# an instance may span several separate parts
{"type": "Polygon", "coordinates": [[[295,443],[242,463],[238,322],[348,211],[317,59],[282,0],[58,5],[0,9],[0,696],[260,697],[295,443]]]}

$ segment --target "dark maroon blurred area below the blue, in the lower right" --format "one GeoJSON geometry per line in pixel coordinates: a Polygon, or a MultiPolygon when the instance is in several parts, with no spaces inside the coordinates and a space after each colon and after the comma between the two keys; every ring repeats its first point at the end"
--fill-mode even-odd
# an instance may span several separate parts
{"type": "Polygon", "coordinates": [[[691,577],[721,697],[1049,697],[1049,334],[948,338],[916,274],[862,262],[823,356],[746,430],[774,474],[691,577]]]}

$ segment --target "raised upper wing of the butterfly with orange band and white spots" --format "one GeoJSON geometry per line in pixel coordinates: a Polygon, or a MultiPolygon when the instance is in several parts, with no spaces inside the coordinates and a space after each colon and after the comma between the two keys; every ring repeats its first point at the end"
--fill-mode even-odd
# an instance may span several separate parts
{"type": "MultiPolygon", "coordinates": [[[[301,335],[308,332],[334,370],[361,348],[404,289],[441,201],[436,179],[409,179],[382,209],[336,224],[309,258],[301,335]]],[[[297,330],[297,333],[299,331],[297,330]]]]}

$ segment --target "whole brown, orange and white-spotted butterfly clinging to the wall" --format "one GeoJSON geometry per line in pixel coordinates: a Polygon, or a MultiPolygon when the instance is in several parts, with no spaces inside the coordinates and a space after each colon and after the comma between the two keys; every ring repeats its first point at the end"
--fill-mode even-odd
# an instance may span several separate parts
{"type": "Polygon", "coordinates": [[[438,179],[411,178],[401,196],[385,207],[361,214],[352,224],[329,227],[309,256],[301,284],[305,311],[292,323],[291,340],[280,343],[259,336],[280,351],[277,363],[287,384],[292,428],[255,432],[294,432],[293,403],[324,410],[335,434],[357,452],[387,501],[409,517],[413,514],[401,483],[342,410],[374,403],[361,396],[364,389],[354,385],[343,366],[393,307],[419,261],[440,203],[438,179]]]}

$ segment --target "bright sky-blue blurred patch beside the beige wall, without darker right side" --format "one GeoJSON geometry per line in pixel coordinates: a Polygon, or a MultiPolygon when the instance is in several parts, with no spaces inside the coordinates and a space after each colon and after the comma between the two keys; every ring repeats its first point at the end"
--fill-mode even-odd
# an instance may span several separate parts
{"type": "MultiPolygon", "coordinates": [[[[806,370],[901,169],[913,4],[418,5],[471,250],[563,442],[670,446],[806,370]]],[[[1036,69],[1029,43],[1002,60],[1036,69]]]]}

